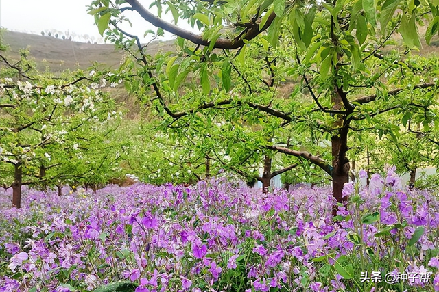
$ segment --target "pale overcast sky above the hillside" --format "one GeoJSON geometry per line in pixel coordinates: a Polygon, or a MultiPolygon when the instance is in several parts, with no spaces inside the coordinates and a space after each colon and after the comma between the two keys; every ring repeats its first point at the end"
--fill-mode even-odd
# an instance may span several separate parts
{"type": "MultiPolygon", "coordinates": [[[[93,36],[95,40],[102,38],[94,24],[93,16],[87,14],[86,6],[92,0],[0,0],[0,26],[12,30],[33,34],[54,29],[63,34],[77,36],[93,36]]],[[[149,1],[143,1],[143,3],[149,1]]],[[[145,4],[146,6],[147,4],[145,4]]],[[[149,5],[147,5],[149,6],[149,5]]],[[[132,34],[143,36],[147,29],[153,29],[136,12],[124,12],[132,21],[133,27],[124,28],[132,34]]],[[[171,21],[170,12],[165,16],[171,21]]],[[[179,26],[182,24],[178,23],[179,26]]],[[[191,29],[189,25],[183,25],[191,29]]],[[[164,39],[171,38],[166,34],[164,39]]]]}

